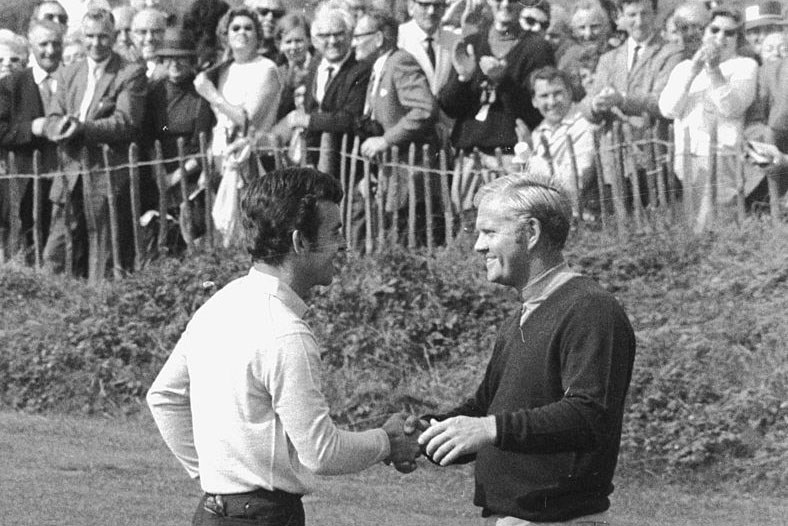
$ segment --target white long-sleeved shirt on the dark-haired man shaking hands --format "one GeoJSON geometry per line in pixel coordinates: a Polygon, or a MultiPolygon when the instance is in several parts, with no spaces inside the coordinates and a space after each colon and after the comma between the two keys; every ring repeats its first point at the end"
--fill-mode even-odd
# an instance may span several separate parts
{"type": "Polygon", "coordinates": [[[306,311],[253,268],[200,307],[153,382],[164,441],[205,492],[303,495],[314,473],[355,473],[389,455],[382,429],[344,431],[331,419],[306,311]]]}

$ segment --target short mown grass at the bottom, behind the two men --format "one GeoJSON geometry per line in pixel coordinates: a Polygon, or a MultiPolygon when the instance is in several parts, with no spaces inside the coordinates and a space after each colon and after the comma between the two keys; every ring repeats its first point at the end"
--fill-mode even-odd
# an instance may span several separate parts
{"type": "MultiPolygon", "coordinates": [[[[0,524],[175,526],[189,524],[198,485],[141,416],[0,413],[0,524]]],[[[322,479],[306,499],[310,526],[479,525],[469,467],[422,462],[411,475],[383,465],[322,479]]],[[[777,526],[788,503],[708,487],[663,485],[649,476],[616,480],[616,525],[777,526]]]]}

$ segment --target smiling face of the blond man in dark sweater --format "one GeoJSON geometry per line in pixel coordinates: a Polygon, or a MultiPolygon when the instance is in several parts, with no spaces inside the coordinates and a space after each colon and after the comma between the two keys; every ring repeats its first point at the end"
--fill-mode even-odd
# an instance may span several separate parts
{"type": "Polygon", "coordinates": [[[527,236],[509,205],[489,195],[479,203],[473,249],[484,257],[487,281],[522,289],[528,283],[527,236]]]}

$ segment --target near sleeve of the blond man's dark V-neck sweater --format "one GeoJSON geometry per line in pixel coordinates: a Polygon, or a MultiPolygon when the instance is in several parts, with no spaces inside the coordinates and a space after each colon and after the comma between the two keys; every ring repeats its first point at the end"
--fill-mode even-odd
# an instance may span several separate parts
{"type": "Polygon", "coordinates": [[[559,336],[563,397],[496,414],[496,446],[521,453],[591,450],[616,433],[632,374],[635,340],[612,298],[575,304],[559,336]]]}

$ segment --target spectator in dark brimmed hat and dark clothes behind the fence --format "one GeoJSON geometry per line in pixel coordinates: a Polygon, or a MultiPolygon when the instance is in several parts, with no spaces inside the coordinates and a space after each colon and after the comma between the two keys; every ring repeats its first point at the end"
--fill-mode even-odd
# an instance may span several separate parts
{"type": "MultiPolygon", "coordinates": [[[[153,157],[155,141],[159,141],[164,159],[175,159],[179,155],[178,140],[183,139],[185,153],[196,154],[200,151],[200,134],[204,133],[206,140],[210,137],[215,116],[208,101],[194,88],[193,81],[197,73],[197,45],[194,37],[186,30],[168,28],[156,57],[161,62],[164,76],[151,81],[148,87],[143,125],[144,146],[149,156],[153,157]]],[[[173,205],[173,212],[183,218],[184,206],[197,206],[199,209],[199,205],[190,202],[190,196],[181,195],[180,179],[186,178],[187,187],[192,190],[190,194],[193,194],[197,189],[200,163],[188,159],[184,170],[181,170],[179,163],[174,161],[165,164],[165,169],[168,173],[168,202],[173,205]],[[181,210],[178,210],[179,207],[181,210]]],[[[157,208],[158,188],[150,181],[145,186],[145,204],[157,208]]],[[[181,222],[184,239],[189,240],[197,235],[195,229],[199,229],[199,226],[181,222]]]]}

